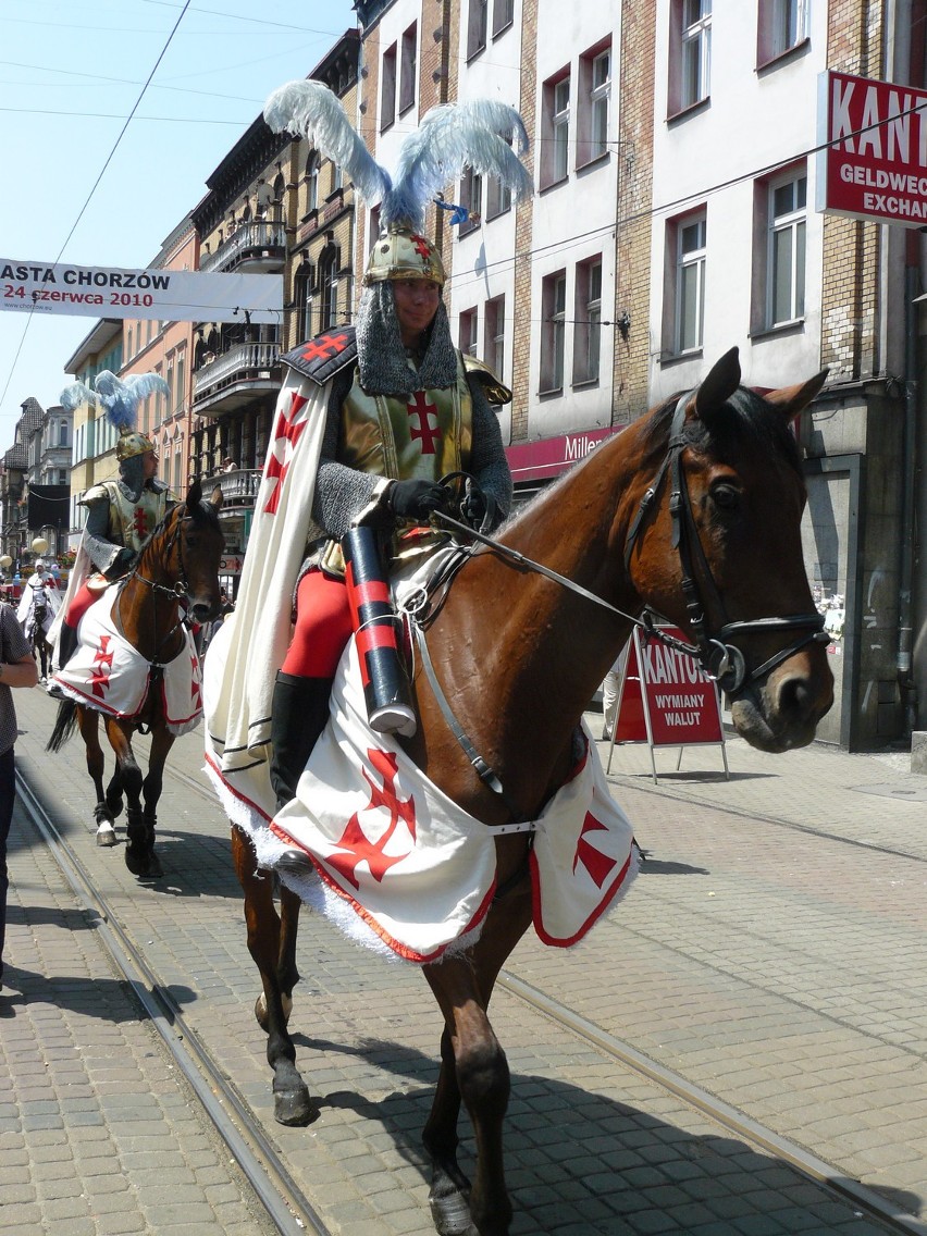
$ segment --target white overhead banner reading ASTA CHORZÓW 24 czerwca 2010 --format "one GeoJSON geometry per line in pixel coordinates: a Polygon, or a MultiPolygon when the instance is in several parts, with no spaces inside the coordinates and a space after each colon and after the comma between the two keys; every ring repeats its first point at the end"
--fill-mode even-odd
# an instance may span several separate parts
{"type": "Polygon", "coordinates": [[[283,276],[130,271],[62,262],[47,266],[0,257],[0,309],[158,321],[279,324],[283,276]]]}

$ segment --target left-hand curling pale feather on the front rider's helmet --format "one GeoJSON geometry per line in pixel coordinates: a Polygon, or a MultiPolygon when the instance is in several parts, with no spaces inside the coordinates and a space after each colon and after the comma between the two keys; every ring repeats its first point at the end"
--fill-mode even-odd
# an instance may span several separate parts
{"type": "Polygon", "coordinates": [[[350,177],[368,205],[376,205],[388,192],[389,173],[361,141],[341,100],[321,82],[288,82],[279,87],[265,104],[265,120],[274,133],[308,138],[350,177]]]}

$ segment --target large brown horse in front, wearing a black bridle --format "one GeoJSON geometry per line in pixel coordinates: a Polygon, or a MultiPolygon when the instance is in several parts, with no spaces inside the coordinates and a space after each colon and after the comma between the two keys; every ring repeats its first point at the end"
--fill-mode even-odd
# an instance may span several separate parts
{"type": "MultiPolygon", "coordinates": [[[[753,745],[785,751],[811,742],[833,680],[802,564],[806,492],[790,420],[824,377],[761,398],[739,386],[732,350],[696,391],[609,439],[519,513],[498,548],[470,557],[429,622],[435,679],[418,658],[420,724],[408,740],[445,794],[487,824],[536,818],[569,776],[577,724],[627,641],[632,616],[645,609],[690,634],[753,745]],[[450,712],[503,794],[477,774],[449,727],[450,712]]],[[[424,1130],[442,1234],[509,1231],[509,1072],[487,1005],[531,922],[528,844],[524,833],[496,839],[498,891],[478,942],[424,965],[444,1018],[424,1130]],[[472,1185],[456,1156],[461,1101],[476,1136],[472,1185]]],[[[263,985],[256,1015],[268,1035],[276,1116],[307,1122],[318,1107],[287,1031],[299,978],[299,902],[282,890],[278,917],[272,881],[256,873],[237,828],[232,852],[263,985]]]]}

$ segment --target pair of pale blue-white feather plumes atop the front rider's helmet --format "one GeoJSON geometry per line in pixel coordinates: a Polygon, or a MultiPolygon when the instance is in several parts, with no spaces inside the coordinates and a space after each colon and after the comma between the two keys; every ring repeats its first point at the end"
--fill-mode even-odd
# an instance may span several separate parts
{"type": "Polygon", "coordinates": [[[528,150],[522,117],[514,108],[493,99],[433,108],[403,142],[396,177],[367,151],[341,101],[321,82],[279,87],[265,104],[265,120],[276,133],[307,137],[341,167],[367,205],[382,203],[382,227],[404,221],[420,231],[428,203],[465,167],[498,177],[515,198],[533,188],[531,176],[518,157],[528,150]]]}

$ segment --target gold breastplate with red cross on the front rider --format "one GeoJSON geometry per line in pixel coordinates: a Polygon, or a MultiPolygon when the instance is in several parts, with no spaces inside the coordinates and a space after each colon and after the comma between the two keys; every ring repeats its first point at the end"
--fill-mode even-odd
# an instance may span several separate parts
{"type": "Polygon", "coordinates": [[[394,481],[439,481],[470,464],[473,409],[457,356],[452,387],[412,396],[371,396],[353,384],[341,405],[337,460],[394,481]]]}

